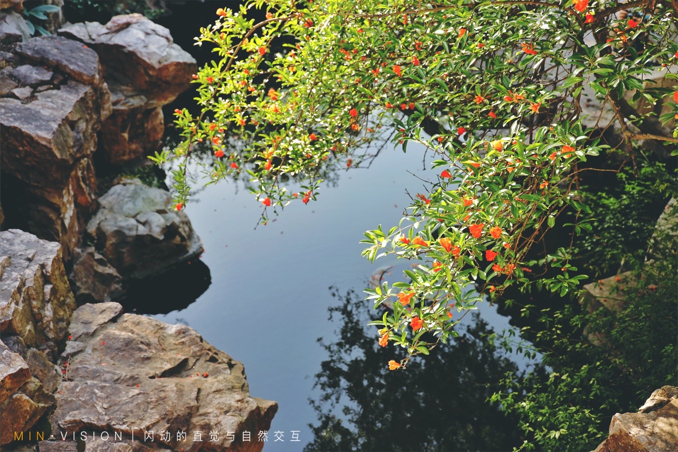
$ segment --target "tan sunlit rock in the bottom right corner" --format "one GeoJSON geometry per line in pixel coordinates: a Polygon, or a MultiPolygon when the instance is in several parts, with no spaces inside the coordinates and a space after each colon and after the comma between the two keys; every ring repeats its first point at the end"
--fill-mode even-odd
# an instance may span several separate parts
{"type": "MultiPolygon", "coordinates": [[[[678,392],[678,388],[671,386],[664,386],[661,390],[667,395],[678,392]]],[[[653,396],[656,394],[657,391],[653,396]]],[[[614,415],[610,423],[610,436],[594,452],[674,452],[676,445],[678,398],[673,396],[653,411],[614,415]]]]}

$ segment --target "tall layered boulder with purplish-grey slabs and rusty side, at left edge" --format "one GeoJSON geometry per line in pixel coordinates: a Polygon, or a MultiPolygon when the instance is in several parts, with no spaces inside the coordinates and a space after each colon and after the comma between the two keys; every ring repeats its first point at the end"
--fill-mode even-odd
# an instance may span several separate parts
{"type": "Polygon", "coordinates": [[[0,73],[7,226],[58,241],[68,260],[94,208],[92,155],[110,92],[98,56],[77,41],[33,38],[14,54],[0,73]]]}

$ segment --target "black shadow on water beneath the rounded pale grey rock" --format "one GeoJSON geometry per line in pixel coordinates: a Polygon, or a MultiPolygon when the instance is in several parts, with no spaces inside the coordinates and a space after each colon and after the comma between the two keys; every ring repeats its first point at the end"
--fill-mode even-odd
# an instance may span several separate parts
{"type": "Polygon", "coordinates": [[[210,284],[210,268],[194,259],[159,276],[130,282],[127,295],[116,301],[123,305],[125,312],[167,314],[186,309],[210,284]]]}

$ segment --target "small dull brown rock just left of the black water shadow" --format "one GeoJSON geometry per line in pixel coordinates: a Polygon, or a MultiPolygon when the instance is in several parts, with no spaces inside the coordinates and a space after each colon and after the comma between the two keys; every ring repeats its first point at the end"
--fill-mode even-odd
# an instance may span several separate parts
{"type": "Polygon", "coordinates": [[[122,294],[122,279],[93,247],[75,249],[73,270],[68,275],[77,304],[111,301],[122,294]]]}

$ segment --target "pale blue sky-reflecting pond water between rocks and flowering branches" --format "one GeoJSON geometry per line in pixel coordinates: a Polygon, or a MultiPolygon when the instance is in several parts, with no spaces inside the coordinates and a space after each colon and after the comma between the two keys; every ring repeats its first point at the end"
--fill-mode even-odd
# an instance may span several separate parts
{"type": "MultiPolygon", "coordinates": [[[[210,58],[209,49],[191,46],[192,39],[223,3],[171,4],[172,16],[157,22],[203,64],[210,58]]],[[[192,98],[192,93],[182,95],[167,106],[168,112],[193,106],[192,98]]],[[[422,157],[423,149],[417,146],[407,153],[386,149],[371,169],[342,171],[336,186],[321,188],[317,202],[292,203],[256,229],[261,205],[238,182],[208,186],[188,203],[186,213],[205,247],[201,262],[209,268],[212,283],[186,308],[154,316],[199,331],[245,365],[252,396],[279,403],[265,450],[298,451],[313,439],[308,424],[317,415],[308,399],[317,398],[314,375],[329,358],[317,339],[331,341],[340,327],[328,321],[327,308],[336,304],[330,286],[361,291],[371,274],[392,264],[397,268],[388,280],[400,278],[405,265],[386,259],[370,264],[360,255],[359,241],[365,230],[399,222],[410,203],[405,188],[424,192],[418,178],[435,178],[433,171],[423,169],[422,157]],[[283,432],[284,441],[274,442],[276,431],[283,432]],[[300,442],[290,442],[293,431],[300,442]]],[[[431,155],[426,160],[431,161],[431,155]]],[[[203,276],[202,283],[208,282],[203,276]]],[[[191,277],[177,275],[165,293],[195,284],[191,277]]],[[[162,297],[157,301],[163,303],[162,297]]],[[[482,317],[491,327],[509,328],[496,308],[483,305],[482,317]]]]}

